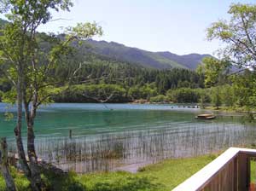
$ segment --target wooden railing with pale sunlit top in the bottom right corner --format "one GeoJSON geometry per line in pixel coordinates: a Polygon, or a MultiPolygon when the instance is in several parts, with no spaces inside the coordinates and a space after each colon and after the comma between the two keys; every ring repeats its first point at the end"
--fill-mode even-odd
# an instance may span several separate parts
{"type": "Polygon", "coordinates": [[[173,191],[249,190],[252,157],[255,149],[229,148],[173,191]]]}

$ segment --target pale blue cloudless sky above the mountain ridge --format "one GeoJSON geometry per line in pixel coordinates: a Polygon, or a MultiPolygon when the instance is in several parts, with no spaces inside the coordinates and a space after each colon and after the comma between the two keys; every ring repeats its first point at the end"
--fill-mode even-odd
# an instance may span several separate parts
{"type": "Polygon", "coordinates": [[[219,43],[207,42],[206,29],[213,21],[228,19],[230,3],[238,2],[256,0],[73,0],[71,12],[53,14],[67,20],[41,26],[40,31],[60,32],[60,26],[95,20],[104,31],[98,40],[178,55],[212,54],[219,43]]]}

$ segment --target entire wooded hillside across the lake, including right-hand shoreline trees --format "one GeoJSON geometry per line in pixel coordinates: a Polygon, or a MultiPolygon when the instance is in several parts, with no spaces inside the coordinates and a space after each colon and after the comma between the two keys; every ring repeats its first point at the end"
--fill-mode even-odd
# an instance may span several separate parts
{"type": "MultiPolygon", "coordinates": [[[[4,26],[6,20],[0,20],[4,26]]],[[[66,35],[38,33],[45,54],[66,35]]],[[[206,107],[253,106],[255,72],[237,72],[234,65],[211,55],[175,55],[149,52],[92,39],[74,42],[68,54],[51,70],[59,83],[50,98],[56,102],[151,102],[199,103],[206,107]],[[76,71],[76,77],[67,77],[76,71]]],[[[44,61],[42,61],[42,64],[44,61]]],[[[244,70],[243,68],[242,70],[244,70]]],[[[3,73],[1,73],[3,75],[3,73]]],[[[7,78],[1,78],[0,97],[12,94],[7,78]],[[2,93],[1,93],[2,92],[2,93]]]]}

